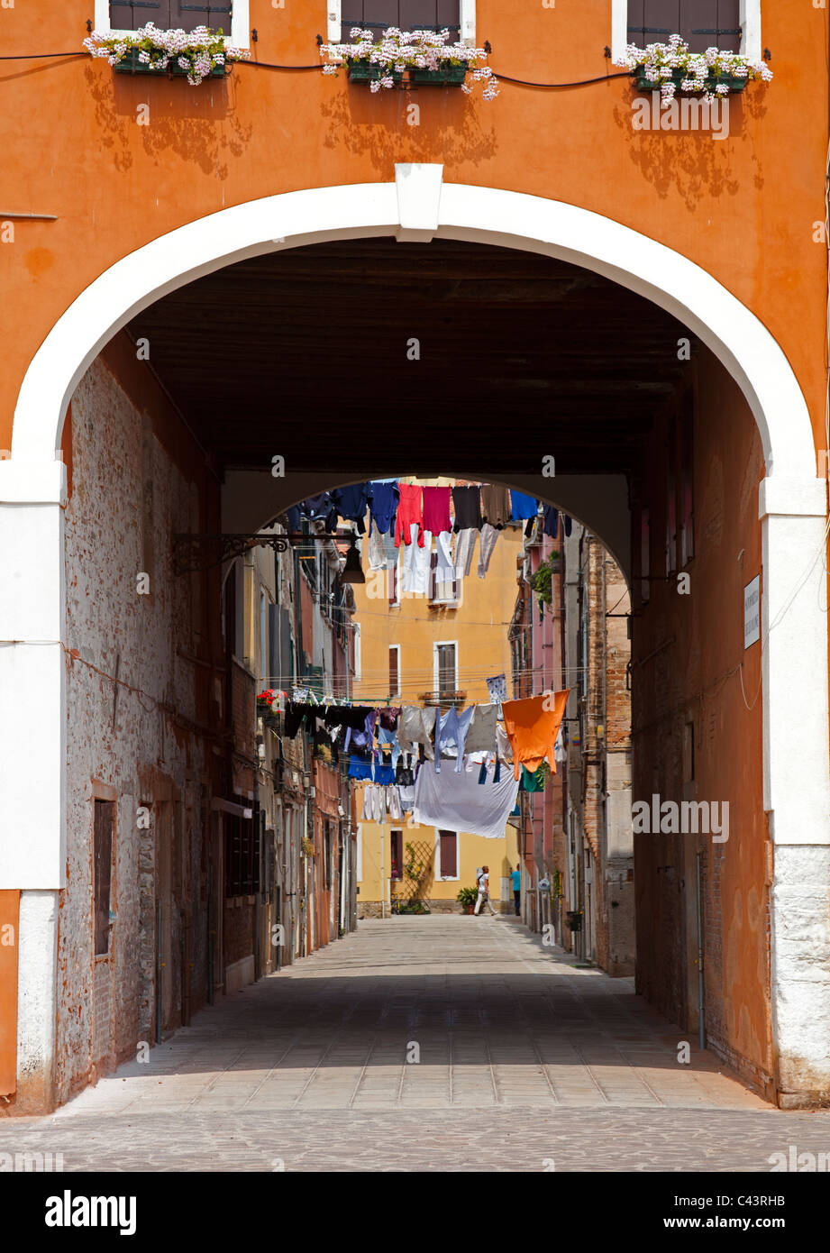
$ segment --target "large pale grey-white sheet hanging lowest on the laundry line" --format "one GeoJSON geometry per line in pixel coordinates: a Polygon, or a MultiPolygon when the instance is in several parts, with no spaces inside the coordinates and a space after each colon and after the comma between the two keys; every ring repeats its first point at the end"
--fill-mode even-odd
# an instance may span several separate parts
{"type": "Polygon", "coordinates": [[[487,771],[487,782],[478,786],[478,767],[471,766],[459,774],[454,771],[419,771],[416,781],[413,821],[442,831],[467,831],[484,840],[502,840],[511,809],[516,804],[518,781],[502,771],[498,783],[494,769],[487,771]]]}

